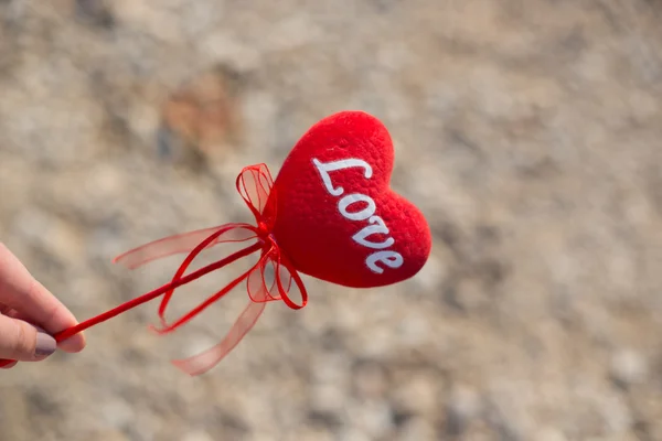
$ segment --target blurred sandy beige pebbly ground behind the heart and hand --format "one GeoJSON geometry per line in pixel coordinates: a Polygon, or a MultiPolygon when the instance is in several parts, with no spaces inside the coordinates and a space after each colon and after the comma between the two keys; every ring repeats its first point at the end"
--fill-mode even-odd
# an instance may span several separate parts
{"type": "Polygon", "coordinates": [[[250,219],[242,166],[277,173],[342,109],[386,123],[435,241],[388,289],[307,278],[306,309],[270,304],[199,378],[169,361],[244,291],[168,337],[158,302],[98,325],[0,373],[0,440],[662,440],[661,22],[656,0],[1,0],[0,240],[79,320],[179,262],[119,252],[250,219]]]}

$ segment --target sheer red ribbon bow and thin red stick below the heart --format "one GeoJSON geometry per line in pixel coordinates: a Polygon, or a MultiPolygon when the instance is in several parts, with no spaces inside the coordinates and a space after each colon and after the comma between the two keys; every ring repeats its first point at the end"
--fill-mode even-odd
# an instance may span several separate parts
{"type": "MultiPolygon", "coordinates": [[[[157,329],[156,326],[150,327],[159,334],[166,334],[189,322],[212,303],[227,294],[237,284],[246,280],[246,289],[250,300],[225,337],[217,345],[206,349],[201,354],[190,358],[177,359],[172,362],[178,368],[189,375],[200,375],[214,367],[242,341],[242,338],[248,333],[248,331],[250,331],[250,329],[259,319],[266,306],[266,302],[282,300],[284,303],[292,310],[298,310],[306,306],[308,303],[308,292],[306,291],[303,281],[297,272],[293,263],[280,250],[273,235],[277,215],[277,194],[274,190],[274,180],[271,179],[269,169],[266,164],[249,165],[244,168],[242,173],[239,173],[237,176],[236,187],[244,198],[246,205],[255,216],[257,225],[254,226],[245,223],[231,223],[212,228],[199,229],[195,232],[164,237],[118,256],[115,258],[115,262],[121,262],[128,268],[132,269],[156,259],[190,251],[170,283],[157,288],[151,292],[147,292],[136,299],[129,300],[117,308],[88,319],[75,326],[66,329],[55,334],[55,340],[61,342],[70,338],[71,336],[90,326],[105,322],[108,319],[119,315],[122,312],[126,312],[160,295],[163,295],[161,305],[159,306],[161,326],[160,329],[157,329]],[[207,265],[184,276],[184,272],[191,262],[204,249],[211,248],[218,244],[241,243],[247,240],[256,241],[255,244],[249,245],[225,257],[224,259],[215,261],[214,263],[207,265]],[[248,271],[235,278],[222,290],[210,297],[207,300],[173,323],[168,323],[166,321],[166,310],[170,300],[172,299],[174,290],[178,287],[189,283],[209,272],[223,268],[226,265],[232,263],[255,251],[260,251],[260,258],[248,271]],[[269,266],[271,266],[274,270],[274,280],[270,283],[267,283],[265,271],[269,266]],[[295,302],[289,297],[292,280],[300,291],[300,303],[295,302]]],[[[0,367],[12,362],[13,361],[0,361],[0,367]]]]}

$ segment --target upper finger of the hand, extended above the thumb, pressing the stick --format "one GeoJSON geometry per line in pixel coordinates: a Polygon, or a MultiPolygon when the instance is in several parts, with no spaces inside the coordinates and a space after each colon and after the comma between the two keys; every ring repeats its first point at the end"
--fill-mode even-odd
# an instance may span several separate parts
{"type": "MultiPolygon", "coordinates": [[[[78,323],[74,314],[36,281],[3,244],[0,244],[0,302],[20,311],[25,321],[51,334],[78,323]]],[[[85,336],[78,333],[57,345],[65,352],[81,352],[85,347],[85,336]]]]}

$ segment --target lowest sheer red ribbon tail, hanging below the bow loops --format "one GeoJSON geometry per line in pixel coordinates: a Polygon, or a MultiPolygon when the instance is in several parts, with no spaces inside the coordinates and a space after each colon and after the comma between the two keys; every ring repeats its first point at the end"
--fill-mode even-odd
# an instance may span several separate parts
{"type": "Polygon", "coordinates": [[[248,302],[227,335],[217,345],[189,358],[175,359],[171,363],[180,370],[191,376],[206,373],[216,366],[255,325],[263,311],[265,302],[248,302]]]}

